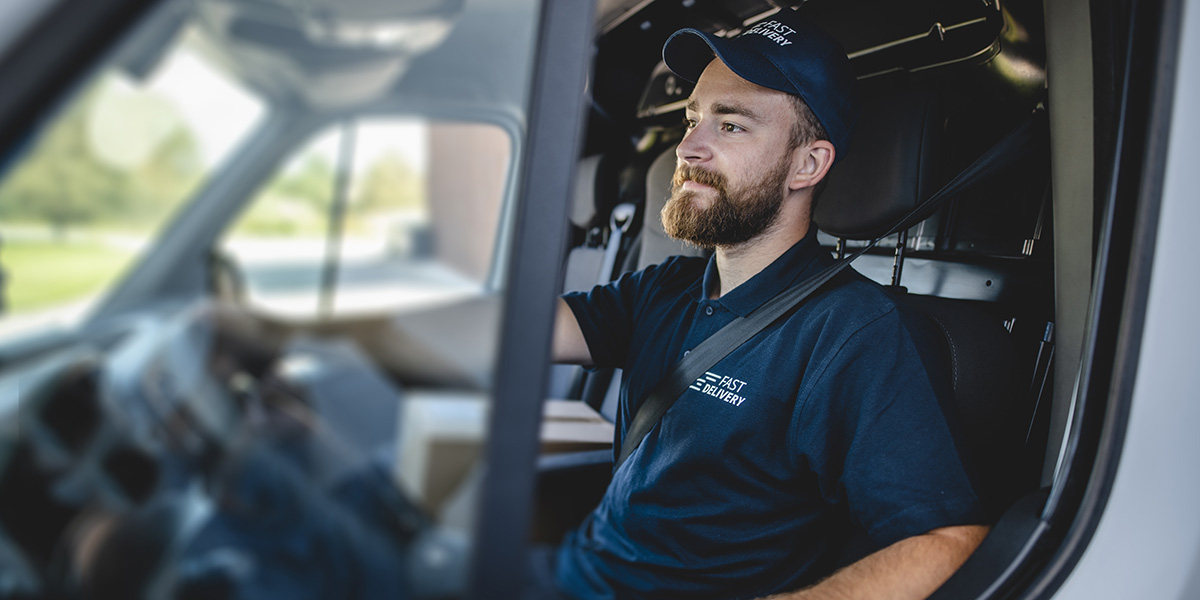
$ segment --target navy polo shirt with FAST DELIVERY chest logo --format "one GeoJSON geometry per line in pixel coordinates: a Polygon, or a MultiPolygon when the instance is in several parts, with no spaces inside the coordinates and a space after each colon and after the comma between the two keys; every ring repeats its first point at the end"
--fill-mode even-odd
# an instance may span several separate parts
{"type": "MultiPolygon", "coordinates": [[[[712,300],[715,259],[671,257],[565,295],[593,361],[625,370],[616,449],[684,353],[832,258],[810,232],[712,300]]],[[[558,552],[576,598],[754,598],[870,551],[983,522],[914,322],[845,270],[713,366],[613,473],[558,552]]],[[[614,449],[614,454],[616,454],[614,449]]]]}

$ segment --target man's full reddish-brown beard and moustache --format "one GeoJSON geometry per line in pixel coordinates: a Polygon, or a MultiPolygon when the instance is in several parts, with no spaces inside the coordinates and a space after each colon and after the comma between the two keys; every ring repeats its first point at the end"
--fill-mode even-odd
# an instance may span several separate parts
{"type": "Polygon", "coordinates": [[[724,175],[680,164],[671,181],[671,199],[662,208],[662,228],[677,240],[709,250],[749,241],[779,217],[787,172],[788,161],[780,161],[757,181],[730,191],[724,175]],[[716,199],[707,209],[696,206],[696,193],[682,190],[685,181],[713,187],[716,199]]]}

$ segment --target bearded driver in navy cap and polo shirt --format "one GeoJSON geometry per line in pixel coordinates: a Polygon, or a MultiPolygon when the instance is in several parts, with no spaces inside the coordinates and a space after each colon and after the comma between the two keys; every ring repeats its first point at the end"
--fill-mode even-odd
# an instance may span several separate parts
{"type": "MultiPolygon", "coordinates": [[[[664,226],[714,254],[568,294],[557,316],[558,360],[625,368],[620,438],[684,354],[828,264],[814,190],[856,114],[845,53],[793,11],[736,38],[678,31],[664,60],[696,82],[664,226]]],[[[928,595],[986,528],[913,331],[878,286],[844,271],[672,404],[559,548],[558,587],[928,595]]]]}

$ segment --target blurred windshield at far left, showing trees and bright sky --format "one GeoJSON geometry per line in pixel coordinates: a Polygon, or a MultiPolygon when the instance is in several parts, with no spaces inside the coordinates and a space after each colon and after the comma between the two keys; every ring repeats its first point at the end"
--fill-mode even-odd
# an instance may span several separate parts
{"type": "Polygon", "coordinates": [[[0,175],[0,343],[84,318],[264,113],[190,29],[82,86],[0,175]]]}

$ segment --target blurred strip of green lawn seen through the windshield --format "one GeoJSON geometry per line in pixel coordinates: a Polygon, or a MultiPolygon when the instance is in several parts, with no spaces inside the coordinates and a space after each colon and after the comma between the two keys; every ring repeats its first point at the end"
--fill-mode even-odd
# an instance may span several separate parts
{"type": "Polygon", "coordinates": [[[114,282],[133,256],[132,250],[92,240],[4,240],[0,268],[8,310],[30,312],[85,300],[114,282]]]}

